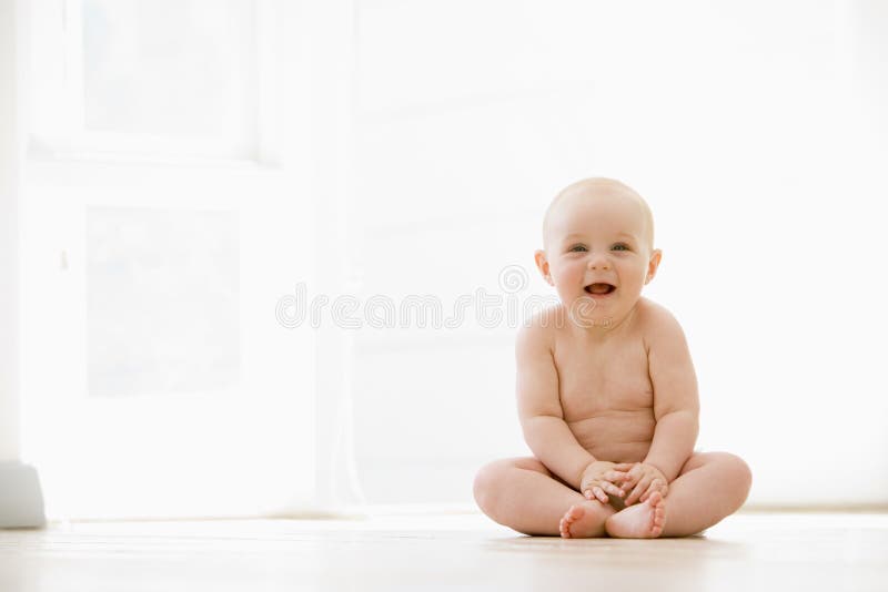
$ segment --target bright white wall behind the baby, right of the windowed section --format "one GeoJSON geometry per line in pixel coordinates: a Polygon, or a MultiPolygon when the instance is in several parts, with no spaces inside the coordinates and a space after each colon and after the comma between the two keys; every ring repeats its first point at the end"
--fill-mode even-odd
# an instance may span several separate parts
{"type": "MultiPolygon", "coordinates": [[[[688,336],[699,446],[750,463],[753,503],[884,503],[878,7],[360,2],[360,294],[434,294],[447,310],[497,293],[504,266],[534,273],[558,188],[619,177],[656,216],[647,296],[688,336]]],[[[551,294],[535,277],[531,293],[551,294]]],[[[470,503],[477,466],[528,453],[514,333],[354,333],[369,501],[470,503]]]]}

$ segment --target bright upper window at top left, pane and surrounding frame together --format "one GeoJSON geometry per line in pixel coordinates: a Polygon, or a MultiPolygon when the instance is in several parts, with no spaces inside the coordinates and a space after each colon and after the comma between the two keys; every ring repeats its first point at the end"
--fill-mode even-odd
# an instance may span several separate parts
{"type": "Polygon", "coordinates": [[[255,159],[251,0],[38,0],[30,10],[38,153],[255,159]]]}

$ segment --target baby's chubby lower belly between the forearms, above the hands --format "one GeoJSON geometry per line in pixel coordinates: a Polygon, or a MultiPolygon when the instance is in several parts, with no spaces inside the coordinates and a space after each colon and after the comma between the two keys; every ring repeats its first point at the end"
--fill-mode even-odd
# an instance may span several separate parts
{"type": "Polygon", "coordinates": [[[579,446],[597,460],[640,462],[654,439],[654,409],[610,410],[567,420],[579,446]]]}

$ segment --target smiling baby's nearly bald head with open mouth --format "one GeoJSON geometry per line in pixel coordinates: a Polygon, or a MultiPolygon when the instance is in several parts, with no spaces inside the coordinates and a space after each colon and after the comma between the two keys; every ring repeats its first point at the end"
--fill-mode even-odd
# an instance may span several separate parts
{"type": "Polygon", "coordinates": [[[603,177],[578,181],[555,196],[543,221],[543,249],[535,253],[562,304],[571,310],[584,304],[593,325],[604,328],[632,312],[660,257],[647,203],[603,177]]]}

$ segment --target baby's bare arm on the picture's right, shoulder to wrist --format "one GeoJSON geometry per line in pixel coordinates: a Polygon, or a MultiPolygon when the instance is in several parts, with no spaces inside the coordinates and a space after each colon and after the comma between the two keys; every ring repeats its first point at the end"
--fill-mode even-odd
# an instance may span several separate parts
{"type": "MultiPolygon", "coordinates": [[[[697,441],[697,376],[682,326],[666,309],[655,310],[646,341],[648,372],[654,387],[656,428],[654,441],[643,463],[655,467],[672,482],[694,452],[694,443],[697,441]]],[[[638,482],[642,483],[644,481],[638,482]]],[[[633,491],[626,502],[632,503],[644,493],[645,491],[633,491]]]]}

